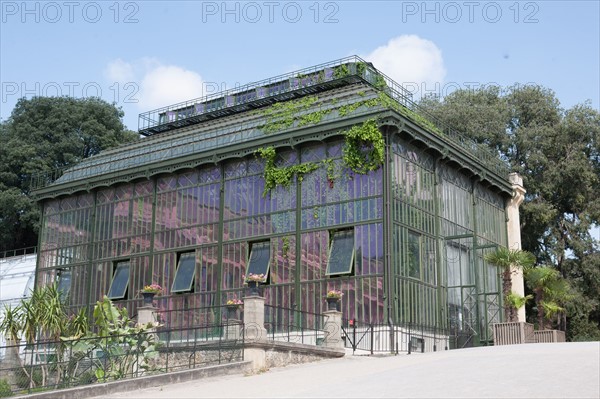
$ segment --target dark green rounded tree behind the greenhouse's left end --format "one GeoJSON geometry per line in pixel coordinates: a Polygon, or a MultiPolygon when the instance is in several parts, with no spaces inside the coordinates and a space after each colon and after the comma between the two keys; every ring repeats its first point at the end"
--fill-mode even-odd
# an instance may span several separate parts
{"type": "Polygon", "coordinates": [[[123,111],[99,98],[20,99],[0,123],[0,251],[37,245],[40,213],[30,178],[137,140],[123,111]]]}

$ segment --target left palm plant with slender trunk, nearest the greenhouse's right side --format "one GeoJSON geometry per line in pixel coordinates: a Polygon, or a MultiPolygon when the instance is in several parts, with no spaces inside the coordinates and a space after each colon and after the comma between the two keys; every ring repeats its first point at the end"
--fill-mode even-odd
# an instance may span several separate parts
{"type": "Polygon", "coordinates": [[[494,252],[485,255],[485,261],[500,269],[502,276],[502,297],[504,300],[504,319],[518,321],[517,308],[511,303],[512,275],[518,270],[527,270],[535,264],[532,253],[520,249],[498,247],[494,252]]]}

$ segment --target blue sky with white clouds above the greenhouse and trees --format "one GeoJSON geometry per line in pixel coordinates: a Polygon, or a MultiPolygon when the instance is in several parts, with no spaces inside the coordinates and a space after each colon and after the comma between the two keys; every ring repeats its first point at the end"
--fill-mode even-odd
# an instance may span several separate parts
{"type": "Polygon", "coordinates": [[[418,97],[537,83],[600,104],[598,1],[2,1],[0,117],[33,95],[140,112],[357,54],[418,97]]]}

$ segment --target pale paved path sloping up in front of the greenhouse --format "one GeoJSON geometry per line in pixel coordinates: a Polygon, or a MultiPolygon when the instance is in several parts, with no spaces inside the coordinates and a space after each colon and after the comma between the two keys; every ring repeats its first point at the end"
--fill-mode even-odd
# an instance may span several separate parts
{"type": "Polygon", "coordinates": [[[600,398],[600,342],[342,359],[110,398],[600,398]]]}

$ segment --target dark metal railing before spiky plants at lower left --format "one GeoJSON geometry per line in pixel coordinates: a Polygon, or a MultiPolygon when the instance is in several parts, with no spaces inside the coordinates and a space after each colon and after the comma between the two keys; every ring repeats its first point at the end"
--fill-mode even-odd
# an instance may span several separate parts
{"type": "Polygon", "coordinates": [[[240,327],[235,337],[222,323],[0,347],[0,397],[242,361],[240,327]]]}

